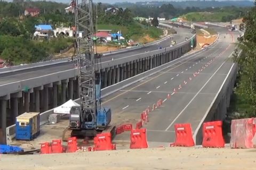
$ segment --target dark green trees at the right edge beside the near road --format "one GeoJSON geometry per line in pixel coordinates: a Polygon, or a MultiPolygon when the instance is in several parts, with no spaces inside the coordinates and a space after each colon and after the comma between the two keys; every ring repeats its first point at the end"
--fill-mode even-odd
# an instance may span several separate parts
{"type": "MultiPolygon", "coordinates": [[[[256,4],[256,3],[254,3],[256,4]]],[[[238,51],[234,55],[235,61],[239,64],[238,84],[235,92],[248,104],[246,117],[256,115],[256,6],[254,6],[244,18],[245,33],[239,39],[238,51]]]]}

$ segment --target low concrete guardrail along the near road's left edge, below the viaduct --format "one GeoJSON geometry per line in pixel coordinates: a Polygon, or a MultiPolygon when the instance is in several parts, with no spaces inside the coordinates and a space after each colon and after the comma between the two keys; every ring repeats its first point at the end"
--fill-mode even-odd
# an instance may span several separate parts
{"type": "MultiPolygon", "coordinates": [[[[219,37],[219,36],[218,36],[219,37]]],[[[217,39],[218,39],[217,37],[217,39]]],[[[210,46],[212,46],[213,44],[216,43],[217,40],[214,41],[214,43],[212,43],[210,46]]],[[[113,94],[114,92],[121,90],[125,87],[130,86],[131,84],[138,82],[142,79],[145,79],[147,77],[149,77],[150,75],[153,75],[159,71],[165,70],[171,66],[173,66],[175,63],[177,62],[182,62],[184,60],[187,60],[188,58],[191,58],[193,56],[195,56],[198,53],[201,53],[203,51],[203,49],[197,50],[196,52],[190,53],[190,54],[185,54],[169,63],[160,65],[158,67],[155,67],[154,69],[148,70],[146,72],[140,73],[138,75],[135,75],[134,77],[131,77],[129,79],[126,79],[124,81],[118,82],[116,84],[113,84],[112,86],[106,87],[101,89],[101,97],[107,97],[108,95],[113,94]]],[[[79,99],[76,99],[74,101],[79,101],[79,99]]],[[[54,108],[53,108],[54,109],[54,108]]],[[[43,112],[40,114],[40,125],[46,124],[48,122],[48,117],[50,114],[53,114],[53,109],[50,109],[49,111],[43,112]]],[[[7,145],[10,145],[12,140],[15,137],[15,124],[11,125],[9,127],[6,128],[6,143],[7,145]]]]}

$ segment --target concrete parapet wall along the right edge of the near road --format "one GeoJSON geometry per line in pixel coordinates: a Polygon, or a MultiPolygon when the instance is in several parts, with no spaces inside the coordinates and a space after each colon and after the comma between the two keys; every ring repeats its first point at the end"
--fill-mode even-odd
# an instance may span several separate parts
{"type": "Polygon", "coordinates": [[[207,109],[204,117],[197,126],[194,132],[194,141],[196,145],[202,145],[203,141],[203,123],[215,120],[224,120],[227,114],[227,108],[230,103],[230,96],[233,94],[233,89],[236,81],[236,75],[238,71],[237,64],[233,64],[227,74],[227,77],[223,81],[218,93],[214,97],[211,105],[207,109]]]}

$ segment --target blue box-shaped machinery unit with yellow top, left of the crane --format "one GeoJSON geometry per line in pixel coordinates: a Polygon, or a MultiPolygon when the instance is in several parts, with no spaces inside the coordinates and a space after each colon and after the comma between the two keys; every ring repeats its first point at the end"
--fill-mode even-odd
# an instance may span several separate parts
{"type": "Polygon", "coordinates": [[[16,117],[17,140],[33,140],[40,133],[40,114],[37,112],[25,112],[16,117]]]}

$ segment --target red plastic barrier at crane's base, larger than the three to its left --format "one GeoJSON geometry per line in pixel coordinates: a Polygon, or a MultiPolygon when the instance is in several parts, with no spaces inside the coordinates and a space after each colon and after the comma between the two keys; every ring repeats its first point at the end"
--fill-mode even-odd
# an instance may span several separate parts
{"type": "Polygon", "coordinates": [[[115,148],[111,143],[110,132],[97,134],[93,141],[95,150],[114,150],[115,148]]]}

